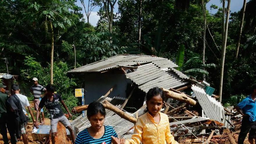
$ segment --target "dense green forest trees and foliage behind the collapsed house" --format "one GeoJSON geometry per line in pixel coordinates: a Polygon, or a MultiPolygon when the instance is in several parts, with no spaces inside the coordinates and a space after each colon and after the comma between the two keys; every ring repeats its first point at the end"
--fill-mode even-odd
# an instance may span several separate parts
{"type": "MultiPolygon", "coordinates": [[[[113,3],[113,0],[109,1],[113,3]]],[[[183,65],[181,70],[198,80],[202,80],[202,73],[206,73],[206,81],[216,88],[215,93],[218,94],[222,8],[212,5],[211,9],[218,9],[218,12],[210,14],[211,11],[206,11],[206,64],[203,65],[204,26],[200,1],[119,0],[111,32],[104,5],[99,0],[92,2],[101,6],[98,11],[100,19],[95,27],[83,18],[82,8],[76,5],[75,0],[0,2],[0,56],[7,58],[9,73],[20,76],[20,83],[27,95],[29,92],[25,89],[31,85],[29,80],[32,77],[38,77],[42,85],[49,83],[49,22],[52,22],[54,31],[54,84],[69,108],[78,104],[73,96],[74,88],[81,87],[81,83],[66,75],[68,70],[74,68],[74,47],[76,67],[79,67],[122,53],[156,55],[177,61],[178,49],[184,46],[184,57],[179,61],[183,65]],[[209,74],[200,69],[205,69],[209,74]]],[[[223,99],[248,94],[248,87],[256,82],[256,0],[250,0],[247,5],[237,60],[234,55],[241,13],[234,12],[230,16],[223,99]]],[[[6,63],[0,61],[0,72],[7,72],[6,63]]]]}

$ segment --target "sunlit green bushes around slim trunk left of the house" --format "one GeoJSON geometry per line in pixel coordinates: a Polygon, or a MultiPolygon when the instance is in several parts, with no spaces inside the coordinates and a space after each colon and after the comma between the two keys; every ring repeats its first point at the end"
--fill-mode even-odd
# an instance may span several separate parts
{"type": "MultiPolygon", "coordinates": [[[[24,81],[32,81],[33,77],[38,78],[38,83],[42,86],[46,86],[50,83],[50,65],[48,67],[42,67],[35,58],[26,56],[24,60],[24,67],[21,70],[22,78],[24,81]]],[[[78,99],[74,96],[74,88],[77,86],[75,79],[69,78],[66,72],[69,70],[66,63],[61,61],[54,62],[53,74],[54,74],[54,86],[56,92],[59,93],[64,100],[67,108],[71,110],[74,106],[77,106],[78,99]]],[[[31,84],[32,85],[32,84],[31,84]]],[[[26,95],[32,95],[27,93],[26,95]]],[[[63,109],[65,112],[65,109],[63,109]]]]}

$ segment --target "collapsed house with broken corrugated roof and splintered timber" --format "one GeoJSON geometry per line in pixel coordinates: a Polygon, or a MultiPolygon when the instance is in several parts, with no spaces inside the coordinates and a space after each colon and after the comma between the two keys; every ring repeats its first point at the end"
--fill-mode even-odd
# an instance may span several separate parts
{"type": "MultiPolygon", "coordinates": [[[[68,73],[83,79],[85,104],[108,101],[134,118],[144,113],[145,95],[150,88],[171,91],[178,97],[166,96],[161,112],[170,116],[170,130],[175,137],[204,135],[211,130],[219,135],[223,127],[231,128],[230,116],[234,114],[216,100],[218,96],[213,94],[214,88],[205,81],[187,77],[175,67],[178,66],[166,58],[125,54],[68,73]]],[[[73,112],[76,113],[76,108],[73,112]]],[[[90,127],[86,112],[84,117],[80,115],[71,124],[76,133],[90,127]]],[[[120,137],[130,138],[133,133],[134,123],[111,110],[106,111],[104,125],[113,126],[120,137]]],[[[199,142],[202,141],[203,138],[199,142]]]]}

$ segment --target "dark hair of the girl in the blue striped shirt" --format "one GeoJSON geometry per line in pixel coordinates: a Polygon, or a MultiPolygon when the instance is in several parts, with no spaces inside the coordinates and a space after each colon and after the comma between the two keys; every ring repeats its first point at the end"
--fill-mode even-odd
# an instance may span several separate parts
{"type": "Polygon", "coordinates": [[[87,107],[87,117],[88,119],[97,113],[101,113],[102,115],[106,115],[106,111],[104,106],[99,102],[92,102],[87,107]]]}

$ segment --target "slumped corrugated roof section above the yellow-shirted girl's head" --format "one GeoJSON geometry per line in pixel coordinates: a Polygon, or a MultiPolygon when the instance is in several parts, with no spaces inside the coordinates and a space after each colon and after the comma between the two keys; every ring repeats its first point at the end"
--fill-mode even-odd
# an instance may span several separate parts
{"type": "Polygon", "coordinates": [[[156,86],[170,89],[189,83],[183,81],[173,70],[163,71],[152,63],[139,66],[135,72],[127,73],[126,78],[131,79],[138,85],[138,88],[146,93],[150,88],[156,86]]]}

